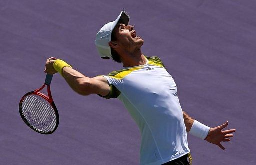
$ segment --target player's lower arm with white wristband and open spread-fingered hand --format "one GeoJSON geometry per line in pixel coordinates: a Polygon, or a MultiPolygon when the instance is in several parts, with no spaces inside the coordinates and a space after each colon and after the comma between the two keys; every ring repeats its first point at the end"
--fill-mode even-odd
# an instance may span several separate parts
{"type": "Polygon", "coordinates": [[[235,129],[223,130],[228,125],[228,121],[224,124],[219,125],[214,128],[209,128],[206,125],[196,121],[190,117],[186,112],[183,111],[184,121],[186,125],[186,130],[190,134],[205,139],[206,141],[218,145],[221,149],[225,149],[220,142],[228,142],[231,137],[233,137],[233,132],[235,129]]]}

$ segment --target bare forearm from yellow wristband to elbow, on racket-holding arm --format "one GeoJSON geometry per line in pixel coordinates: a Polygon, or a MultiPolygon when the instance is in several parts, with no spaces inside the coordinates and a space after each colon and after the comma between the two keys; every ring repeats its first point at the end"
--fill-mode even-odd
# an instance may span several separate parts
{"type": "Polygon", "coordinates": [[[72,69],[71,67],[64,67],[62,69],[62,76],[69,84],[69,86],[81,95],[89,95],[89,86],[91,78],[86,77],[82,73],[72,69]]]}

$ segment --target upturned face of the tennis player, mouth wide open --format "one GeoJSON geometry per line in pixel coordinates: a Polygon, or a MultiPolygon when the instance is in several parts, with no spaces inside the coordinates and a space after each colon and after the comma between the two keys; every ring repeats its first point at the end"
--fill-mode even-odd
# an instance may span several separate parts
{"type": "Polygon", "coordinates": [[[119,48],[122,48],[128,52],[132,52],[135,49],[140,49],[144,40],[139,36],[136,36],[136,31],[131,25],[117,24],[113,31],[115,33],[117,44],[119,48]]]}

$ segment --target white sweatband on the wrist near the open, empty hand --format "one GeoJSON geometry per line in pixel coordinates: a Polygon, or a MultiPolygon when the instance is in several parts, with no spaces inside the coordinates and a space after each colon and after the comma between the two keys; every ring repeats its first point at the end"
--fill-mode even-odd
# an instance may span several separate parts
{"type": "Polygon", "coordinates": [[[189,133],[204,140],[207,137],[209,130],[210,127],[200,123],[197,120],[194,120],[189,133]]]}

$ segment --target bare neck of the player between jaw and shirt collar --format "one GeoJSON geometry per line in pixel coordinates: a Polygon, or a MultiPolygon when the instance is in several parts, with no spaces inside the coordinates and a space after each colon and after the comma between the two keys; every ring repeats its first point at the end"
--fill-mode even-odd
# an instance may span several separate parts
{"type": "Polygon", "coordinates": [[[123,67],[134,67],[146,64],[146,59],[139,49],[139,51],[133,53],[125,53],[121,57],[123,67]]]}

